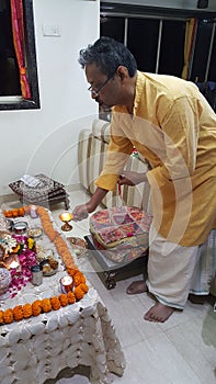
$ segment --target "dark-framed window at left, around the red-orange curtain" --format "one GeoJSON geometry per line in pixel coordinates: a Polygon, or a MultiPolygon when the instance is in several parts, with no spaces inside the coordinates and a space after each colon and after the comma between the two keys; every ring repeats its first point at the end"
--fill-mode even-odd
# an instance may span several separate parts
{"type": "Polygon", "coordinates": [[[22,98],[12,35],[11,3],[10,0],[0,0],[0,110],[39,108],[32,0],[23,0],[23,13],[25,67],[31,97],[29,100],[22,98]]]}

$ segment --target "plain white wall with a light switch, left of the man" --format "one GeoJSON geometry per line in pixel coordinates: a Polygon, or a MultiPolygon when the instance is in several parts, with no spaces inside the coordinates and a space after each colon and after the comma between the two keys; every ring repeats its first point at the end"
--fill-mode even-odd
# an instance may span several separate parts
{"type": "Polygon", "coordinates": [[[41,110],[0,111],[0,195],[24,173],[79,182],[78,133],[96,115],[79,50],[99,37],[99,0],[33,0],[41,110]],[[43,25],[60,36],[44,36],[43,25]]]}

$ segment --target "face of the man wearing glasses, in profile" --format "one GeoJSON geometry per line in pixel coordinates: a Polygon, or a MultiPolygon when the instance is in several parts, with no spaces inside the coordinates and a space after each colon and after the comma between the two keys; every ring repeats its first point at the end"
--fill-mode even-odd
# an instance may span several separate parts
{"type": "Polygon", "coordinates": [[[90,92],[92,99],[94,99],[103,110],[111,109],[113,105],[118,104],[118,82],[116,75],[109,78],[102,74],[95,64],[89,64],[86,66],[87,81],[90,83],[90,92]]]}

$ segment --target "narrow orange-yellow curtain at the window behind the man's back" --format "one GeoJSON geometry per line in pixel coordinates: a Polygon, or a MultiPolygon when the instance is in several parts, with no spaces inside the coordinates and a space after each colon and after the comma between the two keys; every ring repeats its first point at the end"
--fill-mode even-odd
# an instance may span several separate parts
{"type": "Polygon", "coordinates": [[[182,70],[182,79],[187,79],[189,65],[192,55],[193,42],[196,31],[196,19],[192,18],[186,22],[185,39],[184,39],[184,67],[182,70]]]}

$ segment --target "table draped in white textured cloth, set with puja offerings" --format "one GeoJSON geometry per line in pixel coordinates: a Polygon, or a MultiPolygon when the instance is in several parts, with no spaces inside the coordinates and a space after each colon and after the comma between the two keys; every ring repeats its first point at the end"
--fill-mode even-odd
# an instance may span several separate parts
{"type": "MultiPolygon", "coordinates": [[[[36,225],[39,218],[34,221],[36,225]]],[[[55,275],[44,278],[38,286],[29,283],[1,309],[59,295],[59,279],[65,274],[60,264],[55,275]]],[[[72,305],[0,326],[1,384],[29,384],[30,380],[43,384],[79,364],[90,366],[92,383],[111,383],[111,372],[123,375],[125,360],[114,326],[96,291],[89,282],[88,286],[84,297],[72,305]]]]}

